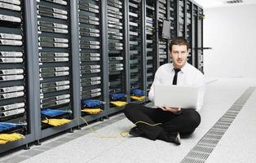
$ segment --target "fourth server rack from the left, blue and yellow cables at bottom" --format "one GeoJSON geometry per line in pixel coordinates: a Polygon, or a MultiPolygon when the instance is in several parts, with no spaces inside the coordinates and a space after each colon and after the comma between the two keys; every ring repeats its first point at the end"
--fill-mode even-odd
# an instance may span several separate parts
{"type": "Polygon", "coordinates": [[[107,0],[108,10],[108,80],[109,80],[109,110],[108,114],[121,111],[123,107],[111,104],[111,101],[127,101],[126,73],[126,27],[127,7],[125,1],[107,0]],[[113,98],[113,95],[121,99],[113,98]]]}

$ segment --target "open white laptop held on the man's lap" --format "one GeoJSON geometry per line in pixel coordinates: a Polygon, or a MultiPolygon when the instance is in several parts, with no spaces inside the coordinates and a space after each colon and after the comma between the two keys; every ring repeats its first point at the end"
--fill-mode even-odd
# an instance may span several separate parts
{"type": "Polygon", "coordinates": [[[169,106],[172,108],[196,109],[198,86],[155,85],[155,106],[169,106]]]}

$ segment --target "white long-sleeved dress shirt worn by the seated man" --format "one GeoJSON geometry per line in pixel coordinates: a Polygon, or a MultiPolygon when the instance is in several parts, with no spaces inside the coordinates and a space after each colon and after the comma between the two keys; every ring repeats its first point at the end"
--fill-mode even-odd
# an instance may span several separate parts
{"type": "MultiPolygon", "coordinates": [[[[155,73],[154,81],[152,82],[152,86],[148,93],[148,98],[151,101],[154,101],[154,85],[156,84],[165,84],[172,85],[174,78],[174,65],[172,63],[163,64],[155,73]]],[[[191,64],[183,65],[181,71],[178,73],[177,77],[177,85],[178,86],[199,86],[199,97],[197,101],[196,111],[201,110],[204,103],[204,95],[205,95],[205,77],[203,73],[201,73],[198,69],[193,67],[191,64]]]]}

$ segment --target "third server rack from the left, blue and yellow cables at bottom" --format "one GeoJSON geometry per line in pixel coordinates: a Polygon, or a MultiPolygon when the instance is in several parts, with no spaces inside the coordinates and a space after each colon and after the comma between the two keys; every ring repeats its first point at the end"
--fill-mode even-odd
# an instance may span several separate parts
{"type": "MultiPolygon", "coordinates": [[[[83,101],[96,99],[106,102],[104,95],[104,20],[105,11],[103,1],[79,0],[79,59],[80,59],[80,86],[81,86],[81,109],[86,106],[83,101]]],[[[105,103],[106,104],[106,103],[105,103]]],[[[106,116],[106,105],[101,104],[97,108],[102,111],[94,114],[81,112],[82,117],[92,121],[106,116]]]]}

